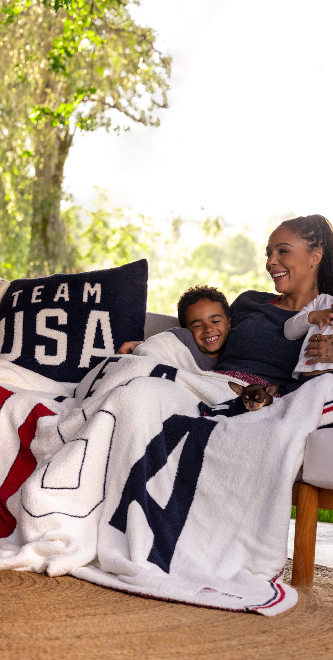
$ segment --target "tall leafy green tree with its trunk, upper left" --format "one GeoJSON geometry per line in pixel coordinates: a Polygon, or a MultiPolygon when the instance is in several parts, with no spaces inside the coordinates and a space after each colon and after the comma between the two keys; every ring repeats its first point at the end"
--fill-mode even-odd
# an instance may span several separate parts
{"type": "Polygon", "coordinates": [[[75,131],[158,125],[170,58],[126,0],[77,0],[57,13],[32,0],[11,5],[18,16],[4,5],[13,22],[0,26],[2,270],[16,238],[36,277],[63,267],[61,185],[75,131]]]}

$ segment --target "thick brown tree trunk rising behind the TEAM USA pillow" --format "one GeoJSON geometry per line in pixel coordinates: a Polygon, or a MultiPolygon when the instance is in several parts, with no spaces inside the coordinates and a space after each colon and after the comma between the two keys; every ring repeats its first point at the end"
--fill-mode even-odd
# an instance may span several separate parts
{"type": "Polygon", "coordinates": [[[38,131],[35,153],[36,175],[32,197],[30,265],[27,277],[59,272],[63,265],[65,227],[60,218],[63,166],[73,136],[65,129],[38,131]]]}

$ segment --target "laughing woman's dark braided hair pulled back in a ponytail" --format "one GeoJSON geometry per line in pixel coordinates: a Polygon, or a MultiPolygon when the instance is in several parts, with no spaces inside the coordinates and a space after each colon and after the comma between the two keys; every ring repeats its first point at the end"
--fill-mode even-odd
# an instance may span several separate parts
{"type": "Polygon", "coordinates": [[[333,227],[323,215],[307,215],[284,220],[279,225],[295,232],[309,246],[309,252],[322,249],[318,268],[318,291],[333,296],[333,227]]]}

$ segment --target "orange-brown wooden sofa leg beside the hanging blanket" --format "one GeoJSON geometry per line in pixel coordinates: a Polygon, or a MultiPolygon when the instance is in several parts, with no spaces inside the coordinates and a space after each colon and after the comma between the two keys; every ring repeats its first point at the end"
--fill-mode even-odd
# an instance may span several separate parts
{"type": "Polygon", "coordinates": [[[299,484],[295,523],[293,574],[294,587],[312,587],[315,570],[316,523],[319,488],[299,484]]]}

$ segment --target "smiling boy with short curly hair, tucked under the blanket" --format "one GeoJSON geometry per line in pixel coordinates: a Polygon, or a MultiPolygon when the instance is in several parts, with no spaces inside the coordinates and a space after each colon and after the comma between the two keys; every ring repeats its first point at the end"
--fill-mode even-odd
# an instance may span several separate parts
{"type": "MultiPolygon", "coordinates": [[[[192,353],[200,369],[212,370],[223,352],[231,327],[227,298],[216,286],[190,287],[177,304],[180,328],[170,328],[192,353]]],[[[124,343],[118,354],[133,352],[141,342],[124,343]]]]}

